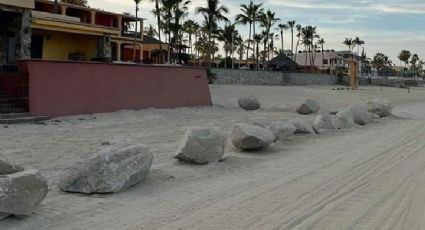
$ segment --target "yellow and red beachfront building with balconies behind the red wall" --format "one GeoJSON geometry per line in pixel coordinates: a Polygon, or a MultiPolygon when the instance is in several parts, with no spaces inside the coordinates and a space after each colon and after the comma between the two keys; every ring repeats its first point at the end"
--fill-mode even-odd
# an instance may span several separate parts
{"type": "MultiPolygon", "coordinates": [[[[17,59],[164,63],[168,44],[144,43],[144,19],[50,0],[0,0],[0,63],[17,59]],[[6,41],[6,42],[4,42],[6,41]],[[12,55],[13,50],[17,50],[12,55]],[[162,51],[161,51],[162,49],[162,51]],[[155,52],[154,52],[155,51],[155,52]]],[[[149,39],[151,41],[152,39],[149,39]]]]}

